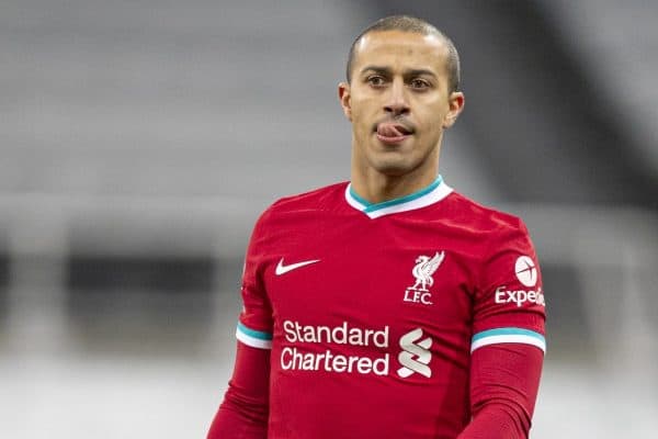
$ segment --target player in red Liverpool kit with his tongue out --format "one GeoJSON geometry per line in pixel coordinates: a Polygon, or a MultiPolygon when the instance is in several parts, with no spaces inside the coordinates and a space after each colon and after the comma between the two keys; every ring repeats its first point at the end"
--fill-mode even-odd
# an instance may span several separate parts
{"type": "Polygon", "coordinates": [[[419,19],[386,18],[355,40],[338,90],[351,181],[258,221],[208,438],[527,437],[541,274],[519,218],[439,175],[458,78],[452,42],[419,19]]]}

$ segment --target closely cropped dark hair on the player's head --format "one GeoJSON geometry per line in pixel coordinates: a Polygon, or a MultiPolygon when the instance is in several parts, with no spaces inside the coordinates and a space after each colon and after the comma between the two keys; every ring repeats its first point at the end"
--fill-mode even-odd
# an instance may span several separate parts
{"type": "Polygon", "coordinates": [[[418,19],[410,15],[390,15],[384,19],[379,19],[365,29],[352,43],[350,47],[350,55],[348,56],[347,67],[347,79],[348,82],[352,81],[352,65],[354,64],[356,45],[365,35],[371,32],[384,32],[384,31],[401,31],[421,35],[435,35],[443,40],[447,47],[447,87],[449,91],[457,91],[460,89],[460,54],[452,42],[443,32],[439,31],[434,25],[428,23],[424,20],[418,19]]]}

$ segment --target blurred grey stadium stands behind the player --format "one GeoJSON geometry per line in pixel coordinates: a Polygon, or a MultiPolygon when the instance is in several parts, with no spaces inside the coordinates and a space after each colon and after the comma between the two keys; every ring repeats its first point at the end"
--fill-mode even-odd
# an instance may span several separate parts
{"type": "Polygon", "coordinates": [[[548,353],[533,438],[658,431],[658,3],[9,0],[0,5],[0,435],[204,437],[245,246],[349,178],[353,37],[453,37],[447,182],[525,218],[548,353]]]}

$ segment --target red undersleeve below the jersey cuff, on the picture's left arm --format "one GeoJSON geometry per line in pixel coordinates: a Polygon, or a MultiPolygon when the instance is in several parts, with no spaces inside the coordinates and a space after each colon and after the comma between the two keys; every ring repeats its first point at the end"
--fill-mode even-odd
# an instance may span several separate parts
{"type": "Polygon", "coordinates": [[[268,437],[270,349],[238,341],[236,365],[207,439],[268,437]]]}

